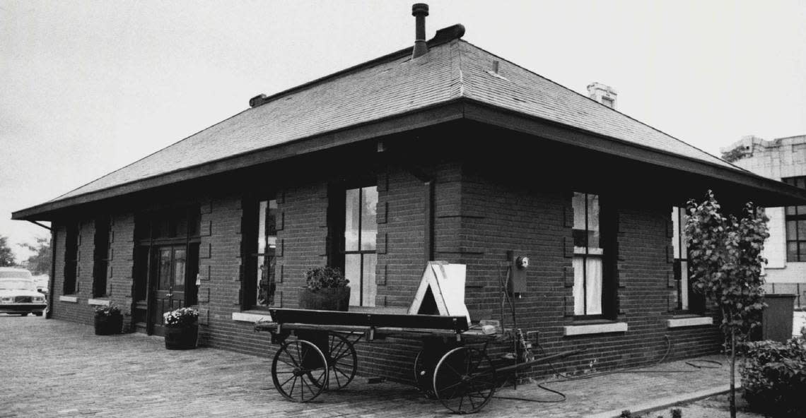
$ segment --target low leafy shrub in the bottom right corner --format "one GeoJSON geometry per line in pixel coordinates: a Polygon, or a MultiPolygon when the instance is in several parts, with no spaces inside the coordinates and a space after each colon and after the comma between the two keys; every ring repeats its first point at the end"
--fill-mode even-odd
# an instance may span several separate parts
{"type": "Polygon", "coordinates": [[[747,345],[740,370],[750,408],[774,417],[806,416],[806,327],[786,343],[747,345]]]}

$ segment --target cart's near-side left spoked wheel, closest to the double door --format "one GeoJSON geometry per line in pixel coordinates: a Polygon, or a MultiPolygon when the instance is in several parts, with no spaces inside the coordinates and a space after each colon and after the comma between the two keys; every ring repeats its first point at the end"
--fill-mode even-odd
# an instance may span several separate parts
{"type": "Polygon", "coordinates": [[[326,364],[325,354],[313,343],[285,341],[272,361],[274,387],[293,402],[310,402],[327,386],[326,364]]]}

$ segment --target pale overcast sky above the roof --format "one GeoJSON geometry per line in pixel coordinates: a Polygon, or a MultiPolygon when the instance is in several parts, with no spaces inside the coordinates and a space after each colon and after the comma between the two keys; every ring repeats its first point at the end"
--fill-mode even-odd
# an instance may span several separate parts
{"type": "MultiPolygon", "coordinates": [[[[0,0],[0,235],[10,221],[276,93],[413,43],[413,1],[0,0]]],[[[432,0],[464,39],[717,154],[806,134],[806,2],[432,0]]]]}

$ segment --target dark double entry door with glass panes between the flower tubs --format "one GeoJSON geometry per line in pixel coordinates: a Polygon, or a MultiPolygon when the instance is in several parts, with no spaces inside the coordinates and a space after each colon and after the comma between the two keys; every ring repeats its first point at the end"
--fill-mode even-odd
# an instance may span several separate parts
{"type": "Polygon", "coordinates": [[[148,316],[152,333],[164,335],[163,313],[196,304],[198,246],[152,248],[148,316]]]}

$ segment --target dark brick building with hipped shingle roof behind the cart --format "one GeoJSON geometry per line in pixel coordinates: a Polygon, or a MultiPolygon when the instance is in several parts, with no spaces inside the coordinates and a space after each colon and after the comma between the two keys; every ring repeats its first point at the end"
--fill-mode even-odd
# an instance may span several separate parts
{"type": "MultiPolygon", "coordinates": [[[[203,345],[268,354],[251,322],[268,306],[297,306],[310,267],[343,268],[353,310],[401,312],[427,260],[462,263],[480,320],[498,317],[513,250],[531,259],[519,326],[539,331],[549,353],[588,348],[559,367],[717,350],[711,312],[689,296],[675,207],[707,188],[726,207],[793,204],[806,192],[463,31],[253,97],[242,113],[14,213],[52,221],[52,317],[89,324],[93,305],[114,303],[129,329],[160,334],[162,312],[197,305],[203,345]]],[[[359,364],[407,379],[416,345],[364,346],[359,364]]]]}

